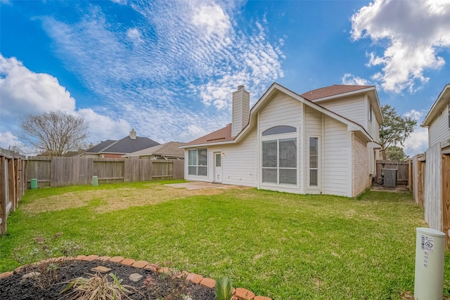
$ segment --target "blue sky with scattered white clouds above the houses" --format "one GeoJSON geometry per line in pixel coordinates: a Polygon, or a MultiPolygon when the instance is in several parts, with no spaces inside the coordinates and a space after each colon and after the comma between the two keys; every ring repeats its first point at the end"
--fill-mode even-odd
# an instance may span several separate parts
{"type": "Polygon", "coordinates": [[[274,82],[373,85],[419,125],[450,83],[450,0],[0,0],[1,148],[51,110],[89,122],[94,145],[131,129],[187,142],[231,122],[239,85],[252,106],[274,82]]]}

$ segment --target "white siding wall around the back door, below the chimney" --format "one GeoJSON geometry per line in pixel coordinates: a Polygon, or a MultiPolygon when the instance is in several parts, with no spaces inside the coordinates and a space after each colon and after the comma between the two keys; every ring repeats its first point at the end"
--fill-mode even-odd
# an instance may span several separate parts
{"type": "Polygon", "coordinates": [[[256,129],[245,137],[241,143],[212,146],[208,149],[211,181],[214,174],[213,152],[221,151],[222,183],[257,186],[257,141],[256,129]]]}

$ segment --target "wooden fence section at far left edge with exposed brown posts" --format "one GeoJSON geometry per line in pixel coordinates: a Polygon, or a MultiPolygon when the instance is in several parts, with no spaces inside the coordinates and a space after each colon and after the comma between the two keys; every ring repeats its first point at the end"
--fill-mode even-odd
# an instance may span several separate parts
{"type": "Polygon", "coordinates": [[[27,160],[13,151],[0,148],[0,235],[6,233],[6,219],[18,207],[25,193],[27,160]]]}

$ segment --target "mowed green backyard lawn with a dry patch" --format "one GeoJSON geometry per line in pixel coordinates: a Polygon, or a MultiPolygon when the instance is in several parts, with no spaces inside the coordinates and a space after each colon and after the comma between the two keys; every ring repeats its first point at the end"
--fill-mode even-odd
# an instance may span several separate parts
{"type": "MultiPolygon", "coordinates": [[[[350,199],[209,189],[182,195],[162,183],[27,190],[8,218],[8,235],[0,237],[0,272],[19,266],[13,254],[30,249],[33,237],[63,232],[60,242],[77,242],[79,254],[228,276],[236,287],[272,299],[412,294],[416,228],[426,224],[409,193],[368,192],[350,199]],[[161,191],[164,201],[156,201],[161,191]],[[122,195],[128,208],[108,200],[111,195],[122,195]],[[55,197],[67,203],[55,209],[55,197]]],[[[444,273],[449,296],[449,251],[444,273]]]]}

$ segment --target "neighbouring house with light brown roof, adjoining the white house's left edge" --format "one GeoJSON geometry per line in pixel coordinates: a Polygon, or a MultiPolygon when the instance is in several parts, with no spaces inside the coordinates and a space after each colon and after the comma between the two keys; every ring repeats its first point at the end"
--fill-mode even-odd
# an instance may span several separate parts
{"type": "Polygon", "coordinates": [[[123,157],[138,157],[150,159],[184,159],[184,150],[180,148],[184,145],[186,145],[186,143],[169,142],[139,150],[124,155],[123,157]]]}

